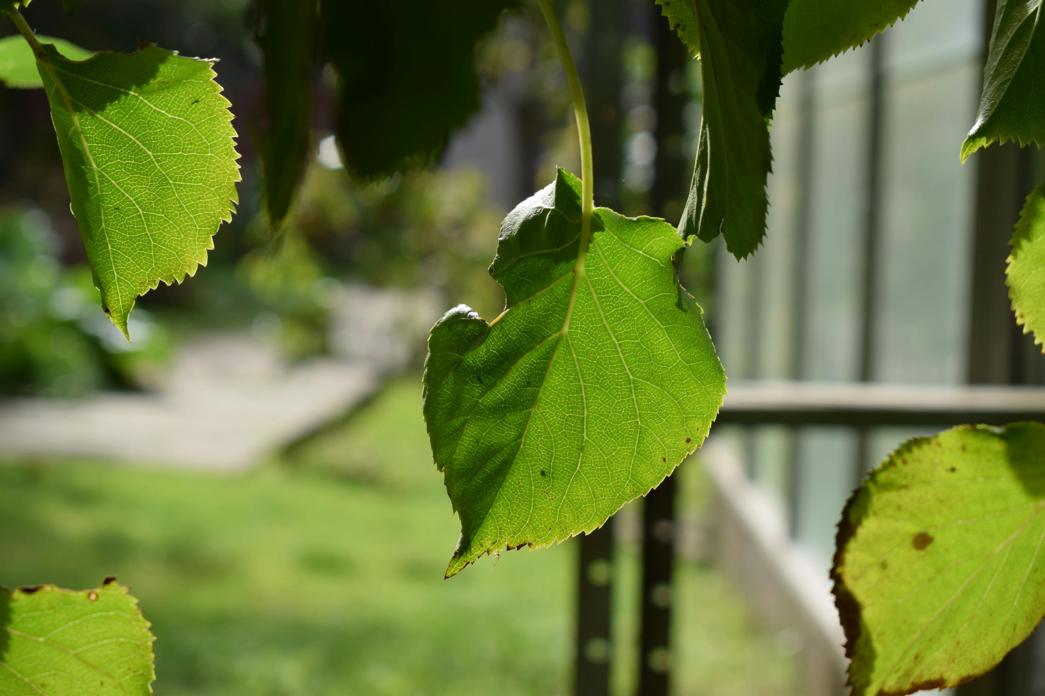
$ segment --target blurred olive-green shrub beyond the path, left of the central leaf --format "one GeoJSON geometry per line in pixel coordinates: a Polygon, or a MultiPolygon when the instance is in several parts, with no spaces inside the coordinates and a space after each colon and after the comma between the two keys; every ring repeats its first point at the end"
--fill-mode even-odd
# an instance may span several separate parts
{"type": "MultiPolygon", "coordinates": [[[[329,152],[320,149],[321,158],[329,152]]],[[[496,316],[504,294],[486,269],[504,214],[475,170],[416,171],[359,186],[326,159],[305,175],[283,254],[301,254],[306,243],[314,263],[348,282],[435,288],[449,303],[496,316]]]]}

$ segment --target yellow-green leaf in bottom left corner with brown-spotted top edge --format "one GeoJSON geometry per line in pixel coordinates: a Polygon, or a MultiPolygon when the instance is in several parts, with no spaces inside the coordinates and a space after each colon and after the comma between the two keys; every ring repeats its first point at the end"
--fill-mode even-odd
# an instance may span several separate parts
{"type": "Polygon", "coordinates": [[[153,693],[149,623],[127,589],[0,587],[0,693],[4,696],[145,696],[153,693]]]}

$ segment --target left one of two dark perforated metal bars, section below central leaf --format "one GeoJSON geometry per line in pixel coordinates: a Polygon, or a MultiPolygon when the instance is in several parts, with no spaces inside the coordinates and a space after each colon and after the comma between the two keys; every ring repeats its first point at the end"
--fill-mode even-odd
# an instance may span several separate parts
{"type": "Polygon", "coordinates": [[[577,645],[574,693],[607,696],[612,657],[612,522],[580,537],[577,581],[577,645]]]}

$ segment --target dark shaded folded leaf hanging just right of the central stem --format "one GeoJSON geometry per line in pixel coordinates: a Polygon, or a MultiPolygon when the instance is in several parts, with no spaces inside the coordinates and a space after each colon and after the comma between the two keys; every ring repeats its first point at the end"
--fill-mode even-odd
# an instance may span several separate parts
{"type": "Polygon", "coordinates": [[[705,242],[719,233],[738,259],[766,232],[767,121],[780,93],[788,0],[696,0],[703,120],[679,231],[705,242]]]}

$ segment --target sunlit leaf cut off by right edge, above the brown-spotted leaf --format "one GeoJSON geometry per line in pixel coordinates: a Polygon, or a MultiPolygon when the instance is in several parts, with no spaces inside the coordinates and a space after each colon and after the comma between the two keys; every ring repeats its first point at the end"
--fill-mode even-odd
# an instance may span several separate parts
{"type": "Polygon", "coordinates": [[[1005,268],[1008,298],[1023,333],[1045,340],[1045,184],[1027,196],[1013,234],[1013,253],[1005,268]]]}

